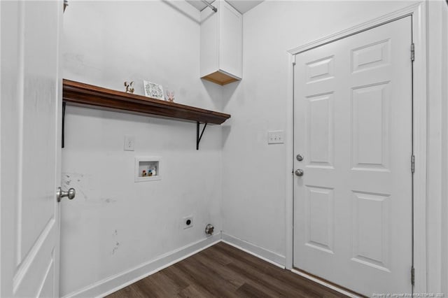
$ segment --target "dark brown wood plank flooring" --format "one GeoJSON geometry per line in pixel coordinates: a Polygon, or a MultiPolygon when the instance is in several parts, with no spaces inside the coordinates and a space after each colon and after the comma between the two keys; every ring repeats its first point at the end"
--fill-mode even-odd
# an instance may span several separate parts
{"type": "Polygon", "coordinates": [[[122,297],[346,297],[223,242],[119,290],[122,297]]]}

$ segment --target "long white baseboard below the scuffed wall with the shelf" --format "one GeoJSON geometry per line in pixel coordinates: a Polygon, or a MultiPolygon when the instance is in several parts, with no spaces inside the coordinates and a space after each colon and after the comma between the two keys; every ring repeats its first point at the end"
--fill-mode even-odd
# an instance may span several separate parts
{"type": "Polygon", "coordinates": [[[102,281],[98,281],[97,283],[88,285],[87,287],[77,290],[76,292],[71,292],[69,295],[66,295],[63,298],[104,297],[122,288],[125,288],[127,285],[135,283],[136,281],[139,281],[146,276],[155,274],[156,272],[165,269],[172,264],[180,262],[181,260],[194,255],[195,253],[199,253],[201,250],[209,248],[210,246],[213,246],[218,242],[221,242],[221,233],[217,233],[211,237],[208,237],[207,239],[203,239],[195,243],[190,243],[187,246],[183,246],[182,248],[172,250],[169,253],[161,255],[155,260],[151,260],[120,274],[105,278],[102,281]]]}

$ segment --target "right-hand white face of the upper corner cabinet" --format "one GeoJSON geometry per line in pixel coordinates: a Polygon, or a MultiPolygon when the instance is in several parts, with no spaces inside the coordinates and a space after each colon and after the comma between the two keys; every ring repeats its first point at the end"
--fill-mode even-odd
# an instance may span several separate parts
{"type": "Polygon", "coordinates": [[[221,1],[218,13],[219,69],[241,78],[243,16],[225,1],[221,1]]]}

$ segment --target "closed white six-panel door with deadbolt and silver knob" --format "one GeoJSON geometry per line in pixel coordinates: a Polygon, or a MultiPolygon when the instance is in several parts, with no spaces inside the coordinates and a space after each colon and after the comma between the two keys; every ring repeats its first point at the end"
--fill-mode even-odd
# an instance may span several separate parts
{"type": "Polygon", "coordinates": [[[411,22],[296,56],[293,264],[368,296],[412,291],[411,22]]]}

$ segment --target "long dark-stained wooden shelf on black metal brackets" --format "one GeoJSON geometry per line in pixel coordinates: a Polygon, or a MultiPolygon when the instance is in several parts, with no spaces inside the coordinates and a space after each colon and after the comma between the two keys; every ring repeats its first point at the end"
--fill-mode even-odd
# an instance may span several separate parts
{"type": "Polygon", "coordinates": [[[95,106],[104,109],[126,111],[127,113],[143,113],[216,125],[221,125],[225,120],[230,118],[230,115],[225,113],[162,101],[160,99],[152,99],[142,95],[110,90],[65,79],[63,81],[62,100],[66,104],[95,106]]]}

